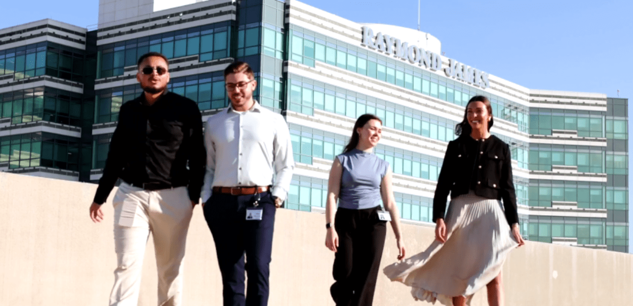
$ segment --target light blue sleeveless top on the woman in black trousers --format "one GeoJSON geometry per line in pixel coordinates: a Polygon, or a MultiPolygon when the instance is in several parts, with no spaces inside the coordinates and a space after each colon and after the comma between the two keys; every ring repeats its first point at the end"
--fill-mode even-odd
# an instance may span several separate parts
{"type": "Polygon", "coordinates": [[[389,162],[358,149],[336,158],[343,166],[339,207],[366,209],[380,205],[380,183],[387,174],[389,162]]]}

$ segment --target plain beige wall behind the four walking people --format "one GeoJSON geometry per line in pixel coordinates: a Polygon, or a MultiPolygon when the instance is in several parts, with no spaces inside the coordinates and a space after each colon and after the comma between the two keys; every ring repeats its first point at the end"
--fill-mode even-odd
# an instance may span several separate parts
{"type": "MultiPolygon", "coordinates": [[[[0,305],[108,305],[116,266],[113,209],[107,202],[105,221],[92,223],[96,185],[0,173],[0,190],[0,305]]],[[[277,211],[269,305],[334,305],[334,254],[324,246],[324,219],[277,211]]],[[[433,239],[424,226],[404,224],[403,235],[408,255],[433,239]]],[[[396,251],[388,229],[382,266],[396,260],[396,251]]],[[[156,305],[154,265],[150,238],[139,305],[156,305]]],[[[633,255],[527,242],[506,260],[503,281],[506,305],[632,305],[633,255]]],[[[213,238],[200,207],[187,240],[184,290],[184,305],[222,305],[213,238]]],[[[475,294],[473,306],[487,305],[485,291],[475,294]]],[[[430,305],[409,292],[381,273],[374,305],[430,305]]]]}

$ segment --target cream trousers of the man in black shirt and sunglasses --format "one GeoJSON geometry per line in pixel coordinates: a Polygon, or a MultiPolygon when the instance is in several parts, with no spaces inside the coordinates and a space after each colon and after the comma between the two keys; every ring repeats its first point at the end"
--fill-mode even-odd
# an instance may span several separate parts
{"type": "Polygon", "coordinates": [[[187,188],[147,191],[122,183],[113,205],[118,266],[110,306],[137,305],[150,232],[158,269],[158,305],[182,305],[182,259],[193,212],[187,188]]]}

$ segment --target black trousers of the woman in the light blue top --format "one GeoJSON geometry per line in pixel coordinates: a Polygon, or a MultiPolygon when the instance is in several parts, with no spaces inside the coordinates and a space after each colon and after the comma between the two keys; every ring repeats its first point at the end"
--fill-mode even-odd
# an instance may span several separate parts
{"type": "Polygon", "coordinates": [[[371,306],[385,245],[387,226],[378,219],[378,207],[339,208],[334,227],[339,247],[334,257],[334,285],[330,293],[337,306],[371,306]]]}

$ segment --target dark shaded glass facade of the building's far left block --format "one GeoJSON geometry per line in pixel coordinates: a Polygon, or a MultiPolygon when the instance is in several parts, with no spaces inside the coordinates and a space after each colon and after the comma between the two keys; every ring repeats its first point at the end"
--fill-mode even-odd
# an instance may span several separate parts
{"type": "Polygon", "coordinates": [[[6,129],[11,134],[3,137],[0,165],[8,162],[8,171],[47,167],[76,171],[80,180],[87,180],[96,71],[94,53],[89,50],[96,47],[96,31],[73,33],[83,38],[61,37],[56,42],[0,50],[0,78],[8,81],[0,90],[0,119],[9,119],[4,122],[9,123],[6,129]],[[64,40],[95,46],[78,49],[66,46],[64,40]],[[68,136],[69,130],[77,137],[68,136]]]}

